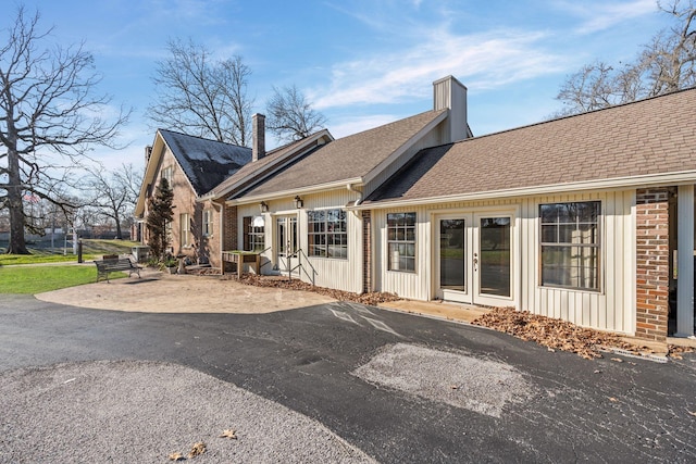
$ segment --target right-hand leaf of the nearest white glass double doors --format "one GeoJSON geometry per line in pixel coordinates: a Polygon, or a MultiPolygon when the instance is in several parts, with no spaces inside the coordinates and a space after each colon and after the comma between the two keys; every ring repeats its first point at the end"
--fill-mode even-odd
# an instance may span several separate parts
{"type": "Polygon", "coordinates": [[[512,300],[512,216],[475,214],[472,255],[473,299],[499,306],[512,300]]]}

